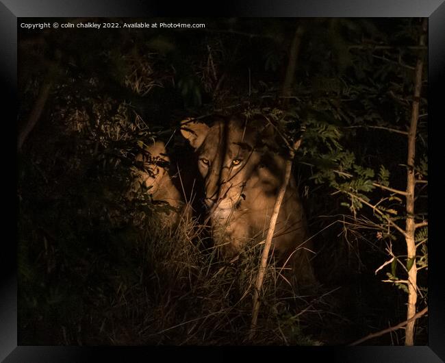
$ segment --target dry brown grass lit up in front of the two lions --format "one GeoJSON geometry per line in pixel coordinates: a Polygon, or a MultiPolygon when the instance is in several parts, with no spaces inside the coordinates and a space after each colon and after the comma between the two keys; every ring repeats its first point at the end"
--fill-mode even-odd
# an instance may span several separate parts
{"type": "MultiPolygon", "coordinates": [[[[301,334],[301,311],[292,312],[303,299],[293,294],[292,286],[279,275],[280,269],[273,266],[268,268],[255,338],[248,339],[260,246],[245,251],[235,261],[225,261],[214,247],[206,247],[202,237],[205,226],[194,219],[182,220],[175,229],[160,229],[158,225],[152,223],[138,242],[143,268],[137,288],[145,297],[140,301],[145,306],[142,320],[135,327],[140,342],[317,344],[301,334]]],[[[129,295],[133,292],[127,291],[129,295]]],[[[127,305],[127,318],[133,313],[139,316],[141,311],[128,301],[125,294],[120,295],[116,306],[127,305]]],[[[124,342],[114,339],[113,343],[124,342]]]]}

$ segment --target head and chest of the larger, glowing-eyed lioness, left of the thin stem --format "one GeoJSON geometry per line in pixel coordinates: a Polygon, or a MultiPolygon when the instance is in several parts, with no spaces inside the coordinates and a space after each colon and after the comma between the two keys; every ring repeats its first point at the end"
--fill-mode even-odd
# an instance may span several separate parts
{"type": "Polygon", "coordinates": [[[212,126],[188,123],[182,133],[198,156],[216,243],[229,254],[239,251],[267,227],[283,158],[265,152],[265,134],[240,118],[217,119],[212,126]]]}

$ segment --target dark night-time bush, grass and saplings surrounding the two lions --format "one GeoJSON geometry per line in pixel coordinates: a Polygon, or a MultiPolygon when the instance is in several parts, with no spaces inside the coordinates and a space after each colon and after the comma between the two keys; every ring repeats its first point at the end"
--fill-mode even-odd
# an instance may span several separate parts
{"type": "MultiPolygon", "coordinates": [[[[344,345],[426,311],[426,22],[199,23],[21,30],[20,345],[344,345]],[[172,171],[193,158],[181,120],[235,112],[301,138],[293,172],[320,281],[302,295],[271,262],[255,334],[262,246],[219,258],[192,171],[194,216],[172,228],[150,190],[131,195],[144,144],[166,142],[172,171]]],[[[425,344],[416,317],[366,344],[425,344]]]]}

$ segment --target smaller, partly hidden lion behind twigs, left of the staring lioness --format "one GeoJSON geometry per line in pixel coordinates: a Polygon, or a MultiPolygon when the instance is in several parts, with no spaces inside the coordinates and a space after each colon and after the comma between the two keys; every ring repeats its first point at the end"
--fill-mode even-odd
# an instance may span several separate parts
{"type": "Polygon", "coordinates": [[[136,156],[136,161],[143,162],[143,170],[135,172],[133,188],[138,190],[143,185],[151,194],[153,201],[168,203],[170,206],[166,212],[160,214],[162,225],[172,227],[179,223],[181,216],[190,216],[183,195],[168,173],[170,158],[164,142],[156,141],[146,145],[143,152],[136,156]]]}

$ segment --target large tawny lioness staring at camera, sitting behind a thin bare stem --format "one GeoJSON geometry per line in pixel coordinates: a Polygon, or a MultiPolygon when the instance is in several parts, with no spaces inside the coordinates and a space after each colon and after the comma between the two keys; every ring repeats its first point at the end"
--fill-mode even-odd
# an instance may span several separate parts
{"type": "MultiPolygon", "coordinates": [[[[264,240],[288,156],[280,149],[275,127],[265,119],[217,116],[211,125],[183,121],[181,134],[198,155],[216,245],[231,256],[246,242],[264,240]]],[[[297,278],[310,283],[314,275],[306,239],[307,223],[292,176],[272,248],[282,261],[292,254],[297,278]]]]}

